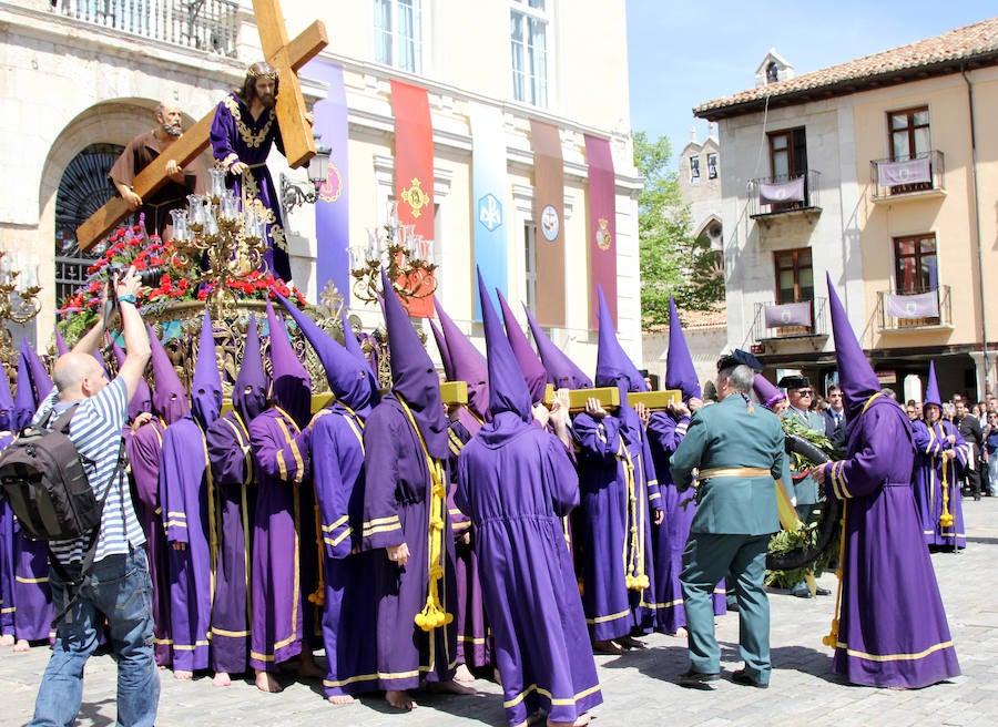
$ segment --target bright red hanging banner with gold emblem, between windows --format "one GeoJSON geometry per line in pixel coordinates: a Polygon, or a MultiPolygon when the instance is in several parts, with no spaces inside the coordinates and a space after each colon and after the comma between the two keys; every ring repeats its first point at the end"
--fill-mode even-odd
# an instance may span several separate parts
{"type": "MultiPolygon", "coordinates": [[[[398,219],[403,225],[415,225],[420,236],[420,254],[431,255],[436,237],[434,208],[434,126],[430,121],[429,98],[426,89],[391,82],[391,111],[395,113],[395,198],[398,202],[398,219]]],[[[411,276],[399,281],[414,291],[431,289],[432,275],[416,279],[411,276]]],[[[431,318],[434,297],[403,296],[409,315],[431,318]]]]}

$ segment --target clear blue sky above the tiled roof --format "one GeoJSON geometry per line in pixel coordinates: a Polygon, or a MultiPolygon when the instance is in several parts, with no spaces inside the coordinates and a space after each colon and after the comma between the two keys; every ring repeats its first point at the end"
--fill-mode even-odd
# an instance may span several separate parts
{"type": "Polygon", "coordinates": [[[998,14],[995,0],[627,0],[631,127],[672,142],[707,124],[693,106],[755,85],[771,48],[797,75],[998,14]]]}

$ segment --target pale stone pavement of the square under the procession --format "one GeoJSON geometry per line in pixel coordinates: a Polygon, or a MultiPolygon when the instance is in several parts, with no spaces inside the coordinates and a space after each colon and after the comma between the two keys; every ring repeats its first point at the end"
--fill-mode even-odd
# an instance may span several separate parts
{"type": "MultiPolygon", "coordinates": [[[[998,724],[998,498],[964,501],[967,550],[933,555],[964,676],[920,690],[890,690],[841,684],[831,673],[831,652],[822,645],[828,633],[833,597],[809,601],[772,593],[773,679],[768,690],[722,680],[713,692],[679,687],[686,668],[685,643],[650,636],[648,648],[623,656],[598,656],[604,704],[594,710],[599,727],[643,725],[852,725],[875,723],[977,727],[998,724]]],[[[822,584],[833,588],[834,575],[822,584]]],[[[737,616],[717,620],[723,666],[737,662],[737,616]]],[[[49,649],[28,654],[0,648],[0,725],[22,725],[31,716],[38,683],[49,649]]],[[[505,725],[497,685],[480,679],[479,696],[417,694],[411,714],[390,713],[380,698],[334,707],[323,700],[317,683],[287,677],[282,694],[256,690],[251,682],[212,687],[210,677],[177,682],[161,672],[161,727],[174,725],[505,725]]],[[[90,661],[79,725],[114,724],[115,667],[109,656],[90,661]]]]}

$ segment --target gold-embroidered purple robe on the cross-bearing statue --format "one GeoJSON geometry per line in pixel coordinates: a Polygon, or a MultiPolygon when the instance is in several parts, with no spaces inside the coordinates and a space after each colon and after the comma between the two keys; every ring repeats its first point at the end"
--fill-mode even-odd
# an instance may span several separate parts
{"type": "MultiPolygon", "coordinates": [[[[277,151],[284,154],[277,113],[274,109],[264,109],[254,119],[249,107],[236,94],[230,93],[215,109],[211,142],[215,161],[225,168],[230,168],[235,162],[249,165],[245,174],[228,175],[228,183],[234,185],[236,196],[242,195],[248,201],[259,199],[259,209],[266,215],[269,239],[264,260],[274,275],[285,281],[291,280],[287,242],[281,219],[281,198],[267,170],[272,145],[276,145],[277,151]]],[[[244,201],[243,204],[247,202],[244,201]]]]}

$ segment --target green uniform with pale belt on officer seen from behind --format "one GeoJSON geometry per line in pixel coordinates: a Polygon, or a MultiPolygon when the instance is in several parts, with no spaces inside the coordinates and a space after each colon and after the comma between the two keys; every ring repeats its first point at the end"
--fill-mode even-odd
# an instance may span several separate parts
{"type": "Polygon", "coordinates": [[[671,459],[680,490],[700,470],[696,514],[683,552],[680,581],[686,608],[691,668],[721,670],[711,594],[729,572],[737,585],[741,656],[745,674],[770,682],[770,602],[766,550],[780,529],[774,480],[790,487],[780,419],[737,391],[696,411],[671,459]]]}

